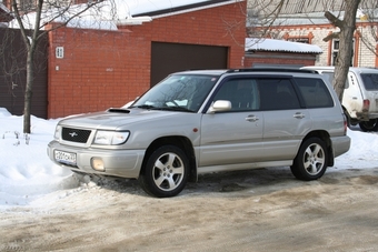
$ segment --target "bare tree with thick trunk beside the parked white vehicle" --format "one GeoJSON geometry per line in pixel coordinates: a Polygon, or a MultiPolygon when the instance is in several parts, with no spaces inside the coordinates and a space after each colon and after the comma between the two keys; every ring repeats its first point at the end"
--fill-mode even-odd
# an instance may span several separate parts
{"type": "MultiPolygon", "coordinates": [[[[345,1],[329,1],[329,0],[250,0],[249,23],[255,27],[262,27],[249,30],[252,36],[265,37],[268,34],[269,28],[275,23],[278,17],[286,17],[286,10],[292,13],[301,13],[304,9],[310,11],[324,11],[325,17],[335,27],[339,28],[339,32],[331,33],[325,41],[330,39],[339,39],[340,48],[335,68],[334,88],[341,101],[344,94],[344,87],[347,80],[348,70],[352,58],[352,39],[356,31],[356,13],[361,0],[345,0],[345,1]],[[335,16],[336,11],[338,16],[335,16]],[[341,17],[344,13],[344,17],[341,17]],[[262,16],[261,16],[262,14],[262,16]],[[258,19],[257,17],[262,17],[258,19]]],[[[308,17],[310,19],[310,17],[308,17]]],[[[275,36],[269,33],[270,37],[275,36]]]]}

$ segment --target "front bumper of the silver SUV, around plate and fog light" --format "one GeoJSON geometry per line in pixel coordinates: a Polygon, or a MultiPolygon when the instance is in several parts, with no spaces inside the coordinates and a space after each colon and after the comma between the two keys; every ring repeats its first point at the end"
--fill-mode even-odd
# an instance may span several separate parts
{"type": "Polygon", "coordinates": [[[58,141],[51,141],[48,144],[47,151],[50,160],[72,171],[129,179],[137,179],[139,177],[145,157],[145,150],[100,150],[92,148],[77,148],[60,144],[58,141]],[[76,163],[68,164],[57,161],[54,154],[56,151],[74,154],[76,163]],[[102,160],[105,171],[94,170],[92,168],[92,159],[102,160]]]}

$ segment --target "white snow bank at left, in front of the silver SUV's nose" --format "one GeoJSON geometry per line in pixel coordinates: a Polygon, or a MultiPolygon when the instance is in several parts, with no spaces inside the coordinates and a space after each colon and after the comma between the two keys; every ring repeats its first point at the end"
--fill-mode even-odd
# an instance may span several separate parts
{"type": "Polygon", "coordinates": [[[57,122],[32,117],[32,133],[24,135],[23,117],[0,108],[0,205],[27,204],[39,195],[78,187],[72,172],[47,155],[57,122]]]}

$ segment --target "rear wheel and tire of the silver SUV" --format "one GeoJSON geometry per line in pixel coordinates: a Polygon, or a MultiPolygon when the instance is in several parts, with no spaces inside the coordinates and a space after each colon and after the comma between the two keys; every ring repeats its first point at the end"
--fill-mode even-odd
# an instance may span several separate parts
{"type": "Polygon", "coordinates": [[[300,145],[290,167],[291,173],[299,180],[317,180],[325,174],[327,161],[328,151],[325,142],[318,138],[307,139],[300,145]]]}

